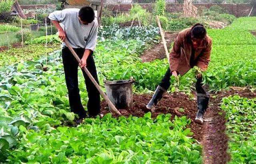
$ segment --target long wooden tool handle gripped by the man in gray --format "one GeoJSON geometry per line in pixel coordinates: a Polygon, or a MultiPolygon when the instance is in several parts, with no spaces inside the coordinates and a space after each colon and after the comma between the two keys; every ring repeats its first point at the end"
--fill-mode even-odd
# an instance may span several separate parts
{"type": "MultiPolygon", "coordinates": [[[[78,57],[78,55],[76,54],[76,52],[74,51],[74,49],[70,46],[70,44],[66,40],[64,42],[65,42],[66,46],[69,48],[70,52],[72,52],[72,54],[74,55],[74,57],[76,58],[78,63],[81,64],[82,62],[81,62],[80,58],[78,57]]],[[[110,110],[112,110],[113,112],[115,112],[118,115],[121,115],[121,113],[116,109],[114,104],[109,100],[108,96],[102,91],[99,84],[96,82],[96,80],[93,78],[92,74],[88,71],[88,69],[86,67],[84,67],[84,72],[87,74],[87,76],[90,78],[90,80],[92,80],[92,83],[95,85],[97,90],[100,92],[100,95],[106,100],[106,102],[110,106],[110,110]]]]}

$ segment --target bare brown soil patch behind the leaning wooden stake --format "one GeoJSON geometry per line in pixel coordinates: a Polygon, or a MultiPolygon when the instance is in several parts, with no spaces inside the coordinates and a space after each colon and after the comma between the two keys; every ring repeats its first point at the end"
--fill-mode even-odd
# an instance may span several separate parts
{"type": "MultiPolygon", "coordinates": [[[[165,33],[166,45],[168,49],[170,49],[171,43],[177,36],[177,33],[165,33]]],[[[164,44],[162,42],[155,44],[152,48],[146,50],[142,56],[140,56],[140,58],[142,58],[142,62],[151,62],[156,59],[166,58],[164,44]]]]}

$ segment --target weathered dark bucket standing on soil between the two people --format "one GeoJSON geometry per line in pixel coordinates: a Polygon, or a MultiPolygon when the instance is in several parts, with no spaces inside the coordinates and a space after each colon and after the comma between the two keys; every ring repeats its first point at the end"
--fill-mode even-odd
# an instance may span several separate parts
{"type": "MultiPolygon", "coordinates": [[[[117,109],[131,109],[133,103],[132,83],[134,80],[104,80],[106,94],[117,109]]],[[[110,107],[109,107],[110,108],[110,107]]]]}

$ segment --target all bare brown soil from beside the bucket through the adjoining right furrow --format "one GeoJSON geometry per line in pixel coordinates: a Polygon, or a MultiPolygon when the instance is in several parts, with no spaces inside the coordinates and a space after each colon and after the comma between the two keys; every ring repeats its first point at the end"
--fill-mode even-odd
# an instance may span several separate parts
{"type": "MultiPolygon", "coordinates": [[[[192,137],[203,146],[203,156],[205,164],[223,164],[230,160],[228,154],[228,136],[226,135],[226,120],[225,112],[220,109],[222,98],[238,94],[242,97],[254,98],[256,92],[251,92],[249,89],[235,88],[235,90],[222,91],[216,94],[211,94],[209,107],[204,115],[204,123],[198,124],[195,122],[197,112],[196,97],[190,98],[186,94],[172,93],[165,94],[162,100],[152,112],[152,117],[155,118],[158,114],[172,114],[174,116],[186,116],[191,119],[190,128],[194,133],[192,137]],[[237,90],[238,89],[238,90],[237,90]],[[182,109],[181,109],[182,108],[182,109]]],[[[152,96],[148,94],[134,95],[134,106],[129,110],[119,110],[124,116],[142,117],[148,110],[146,104],[152,96]]],[[[102,114],[110,112],[105,101],[101,104],[102,114]]],[[[116,117],[115,114],[113,116],[116,117]]]]}

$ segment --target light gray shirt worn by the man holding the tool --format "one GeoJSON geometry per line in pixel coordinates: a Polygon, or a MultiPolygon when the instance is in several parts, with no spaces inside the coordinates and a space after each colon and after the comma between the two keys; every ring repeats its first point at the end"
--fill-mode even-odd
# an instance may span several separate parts
{"type": "MultiPolygon", "coordinates": [[[[61,23],[66,32],[67,40],[73,48],[85,48],[94,51],[98,33],[97,19],[95,18],[92,23],[84,25],[78,20],[78,12],[78,8],[55,11],[49,15],[49,19],[61,23]]],[[[64,42],[62,43],[63,47],[65,47],[64,42]]]]}

